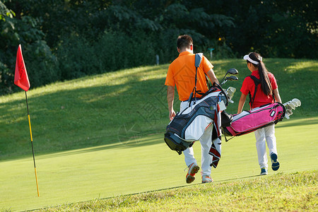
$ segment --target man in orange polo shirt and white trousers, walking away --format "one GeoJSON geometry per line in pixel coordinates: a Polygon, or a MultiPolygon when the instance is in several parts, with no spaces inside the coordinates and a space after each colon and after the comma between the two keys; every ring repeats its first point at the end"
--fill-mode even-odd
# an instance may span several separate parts
{"type": "MultiPolygon", "coordinates": [[[[177,51],[179,52],[179,57],[172,61],[167,71],[167,78],[165,80],[165,85],[167,86],[167,102],[169,107],[169,118],[170,120],[175,117],[175,110],[173,110],[173,101],[175,98],[175,86],[177,86],[177,92],[179,95],[180,111],[188,105],[189,95],[192,93],[195,84],[196,68],[194,66],[195,54],[193,54],[193,40],[189,35],[180,35],[177,38],[177,51]]],[[[201,64],[197,70],[197,81],[196,90],[200,90],[201,93],[206,93],[208,91],[208,86],[206,85],[205,74],[210,78],[212,83],[219,83],[216,75],[213,72],[213,65],[206,59],[202,57],[201,64]]],[[[196,93],[194,98],[200,98],[201,95],[196,93]]],[[[213,182],[211,178],[211,160],[212,156],[208,154],[211,148],[211,137],[212,137],[213,124],[208,126],[204,135],[200,139],[201,143],[201,175],[202,182],[213,182]]],[[[189,171],[186,176],[186,182],[192,183],[195,179],[194,175],[199,171],[199,166],[196,164],[196,159],[194,158],[193,148],[187,148],[183,151],[184,161],[189,167],[189,171]]]]}

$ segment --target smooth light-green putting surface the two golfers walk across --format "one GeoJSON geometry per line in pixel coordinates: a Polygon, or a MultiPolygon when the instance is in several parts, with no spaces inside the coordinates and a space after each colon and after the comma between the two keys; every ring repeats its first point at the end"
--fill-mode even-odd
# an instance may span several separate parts
{"type": "MultiPolygon", "coordinates": [[[[278,172],[317,170],[317,128],[317,117],[284,119],[276,125],[281,163],[278,172]]],[[[260,177],[254,142],[254,134],[228,142],[223,139],[220,163],[212,170],[214,184],[260,177]]],[[[201,154],[199,143],[194,145],[194,151],[201,154]]],[[[32,158],[2,161],[0,209],[30,210],[188,186],[183,160],[183,155],[166,146],[163,132],[110,145],[39,155],[36,162],[40,197],[32,158]]],[[[269,169],[269,175],[276,173],[269,169]]],[[[201,182],[197,176],[193,184],[201,182]]]]}

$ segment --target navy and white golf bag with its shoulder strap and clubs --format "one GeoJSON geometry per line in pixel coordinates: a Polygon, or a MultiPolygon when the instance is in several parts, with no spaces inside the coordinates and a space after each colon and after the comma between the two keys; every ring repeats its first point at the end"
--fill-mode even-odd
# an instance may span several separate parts
{"type": "Polygon", "coordinates": [[[216,167],[220,160],[221,151],[221,129],[220,126],[230,126],[232,116],[227,114],[224,110],[228,107],[228,102],[232,102],[231,98],[235,93],[235,88],[228,88],[223,90],[221,86],[226,81],[237,81],[236,76],[225,76],[230,73],[235,75],[238,73],[236,69],[229,69],[223,79],[223,83],[218,85],[213,84],[211,87],[208,83],[206,76],[206,83],[208,85],[208,92],[200,93],[200,90],[196,90],[196,76],[197,69],[200,66],[202,54],[196,54],[195,56],[195,84],[192,93],[189,96],[188,107],[182,112],[178,112],[172,119],[170,124],[167,125],[165,133],[165,143],[172,151],[177,151],[179,155],[182,151],[185,151],[188,147],[191,147],[194,141],[198,141],[203,136],[206,129],[213,124],[212,130],[212,145],[208,154],[212,155],[211,166],[216,167]],[[196,93],[201,94],[201,98],[196,100],[196,93]],[[191,105],[192,101],[194,104],[191,105]]]}

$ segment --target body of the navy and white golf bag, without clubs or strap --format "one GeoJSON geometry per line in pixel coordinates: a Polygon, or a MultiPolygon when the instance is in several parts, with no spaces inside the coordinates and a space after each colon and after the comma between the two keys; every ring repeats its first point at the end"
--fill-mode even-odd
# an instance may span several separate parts
{"type": "Polygon", "coordinates": [[[209,154],[213,155],[211,166],[216,167],[220,160],[220,107],[225,104],[228,103],[224,91],[212,87],[203,98],[196,101],[195,105],[178,112],[167,125],[165,133],[167,146],[181,155],[182,151],[191,147],[194,141],[199,141],[208,126],[213,124],[212,146],[209,154]]]}

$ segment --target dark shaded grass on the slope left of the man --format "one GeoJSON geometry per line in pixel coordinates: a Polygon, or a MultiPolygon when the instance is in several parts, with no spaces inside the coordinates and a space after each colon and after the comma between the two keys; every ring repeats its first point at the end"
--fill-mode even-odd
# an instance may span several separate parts
{"type": "MultiPolygon", "coordinates": [[[[35,155],[133,148],[163,142],[163,139],[152,141],[146,137],[164,133],[169,122],[165,78],[143,80],[163,67],[166,65],[119,76],[129,78],[129,83],[104,86],[98,82],[98,86],[66,87],[44,94],[29,92],[35,155]]],[[[66,83],[81,83],[85,79],[66,83]]],[[[24,94],[21,96],[20,100],[8,100],[0,105],[0,160],[32,156],[24,94]]]]}

